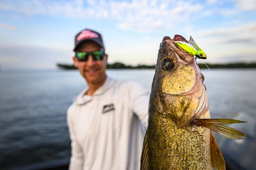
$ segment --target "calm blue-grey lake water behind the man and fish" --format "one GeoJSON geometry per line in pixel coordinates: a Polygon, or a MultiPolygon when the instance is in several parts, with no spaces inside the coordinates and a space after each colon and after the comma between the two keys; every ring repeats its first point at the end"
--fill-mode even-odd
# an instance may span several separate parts
{"type": "MultiPolygon", "coordinates": [[[[202,70],[212,118],[256,118],[256,70],[202,70]]],[[[108,70],[151,88],[154,70],[108,70]]],[[[0,72],[0,169],[70,157],[66,111],[86,84],[77,70],[0,72]]]]}

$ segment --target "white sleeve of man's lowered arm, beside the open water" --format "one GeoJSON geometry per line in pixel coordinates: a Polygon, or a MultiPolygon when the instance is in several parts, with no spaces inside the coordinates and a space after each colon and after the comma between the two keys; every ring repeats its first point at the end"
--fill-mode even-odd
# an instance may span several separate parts
{"type": "Polygon", "coordinates": [[[70,170],[82,170],[83,169],[83,150],[79,143],[77,142],[76,135],[74,133],[74,125],[72,124],[71,120],[71,112],[68,109],[67,112],[67,124],[68,124],[68,131],[70,134],[71,140],[71,158],[69,163],[70,170]]]}

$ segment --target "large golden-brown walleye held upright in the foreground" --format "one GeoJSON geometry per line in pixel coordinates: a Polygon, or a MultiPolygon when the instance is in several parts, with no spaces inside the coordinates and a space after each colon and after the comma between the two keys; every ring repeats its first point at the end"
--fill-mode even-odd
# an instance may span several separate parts
{"type": "Polygon", "coordinates": [[[244,121],[211,119],[204,75],[177,40],[186,39],[164,37],[158,52],[141,169],[225,169],[212,131],[243,139],[246,134],[223,124],[244,121]]]}

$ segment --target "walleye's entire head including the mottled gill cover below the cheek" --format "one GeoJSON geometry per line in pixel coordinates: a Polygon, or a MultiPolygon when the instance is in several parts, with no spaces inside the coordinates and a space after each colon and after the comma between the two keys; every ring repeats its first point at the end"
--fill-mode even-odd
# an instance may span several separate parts
{"type": "Polygon", "coordinates": [[[204,86],[204,76],[194,56],[175,43],[177,38],[185,39],[180,35],[175,35],[173,39],[165,36],[161,42],[152,93],[158,93],[160,100],[157,105],[161,105],[164,112],[168,112],[182,126],[195,113],[191,107],[191,94],[204,86]]]}

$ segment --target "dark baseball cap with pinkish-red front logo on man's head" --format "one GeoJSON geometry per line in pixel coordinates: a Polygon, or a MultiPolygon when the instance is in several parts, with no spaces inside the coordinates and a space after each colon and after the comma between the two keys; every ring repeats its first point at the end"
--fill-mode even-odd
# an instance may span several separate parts
{"type": "Polygon", "coordinates": [[[74,51],[77,50],[77,47],[86,41],[92,41],[97,43],[100,47],[105,51],[104,43],[102,40],[102,36],[97,31],[93,31],[92,29],[83,29],[80,31],[75,37],[75,48],[74,51]]]}

